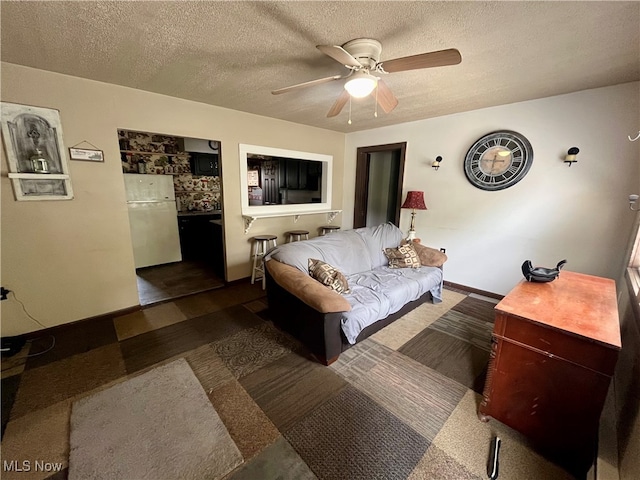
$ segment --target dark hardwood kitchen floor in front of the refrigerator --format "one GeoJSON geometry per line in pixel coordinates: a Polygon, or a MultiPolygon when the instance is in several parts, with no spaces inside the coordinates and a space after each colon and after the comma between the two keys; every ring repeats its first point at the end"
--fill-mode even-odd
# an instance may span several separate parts
{"type": "Polygon", "coordinates": [[[136,275],[140,305],[172,300],[225,285],[224,279],[218,277],[211,267],[189,260],[138,268],[136,275]]]}

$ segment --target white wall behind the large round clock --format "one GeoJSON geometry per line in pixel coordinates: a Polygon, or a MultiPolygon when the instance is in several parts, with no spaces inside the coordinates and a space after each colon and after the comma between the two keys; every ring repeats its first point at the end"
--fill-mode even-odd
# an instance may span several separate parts
{"type": "MultiPolygon", "coordinates": [[[[639,98],[634,82],[348,134],[343,208],[353,210],[356,149],[406,141],[404,194],[425,192],[429,210],[416,215],[416,231],[423,244],[447,249],[445,280],[506,294],[524,260],[563,258],[568,270],[617,279],[635,218],[628,195],[640,193],[640,141],[627,138],[638,132],[639,98]],[[479,190],[464,175],[464,156],[503,129],[529,139],[533,166],[511,188],[479,190]],[[573,146],[580,154],[569,167],[562,158],[573,146]]],[[[402,211],[400,227],[409,222],[402,211]]]]}

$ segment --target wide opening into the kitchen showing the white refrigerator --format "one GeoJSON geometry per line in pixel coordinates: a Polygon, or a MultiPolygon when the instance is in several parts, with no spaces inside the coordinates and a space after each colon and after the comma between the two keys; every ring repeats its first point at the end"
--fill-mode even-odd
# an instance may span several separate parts
{"type": "Polygon", "coordinates": [[[140,305],[225,285],[221,144],[118,129],[140,305]]]}

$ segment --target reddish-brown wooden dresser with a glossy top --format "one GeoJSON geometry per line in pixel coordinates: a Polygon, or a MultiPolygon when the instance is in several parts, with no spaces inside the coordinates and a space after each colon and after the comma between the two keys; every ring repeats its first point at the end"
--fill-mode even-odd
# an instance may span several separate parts
{"type": "Polygon", "coordinates": [[[480,418],[588,469],[621,348],[615,282],[563,270],[553,282],[522,281],[495,310],[480,418]]]}

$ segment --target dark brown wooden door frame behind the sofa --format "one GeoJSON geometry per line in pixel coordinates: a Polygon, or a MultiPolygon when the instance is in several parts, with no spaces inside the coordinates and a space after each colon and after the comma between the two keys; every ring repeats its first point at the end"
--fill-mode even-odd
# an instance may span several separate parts
{"type": "Polygon", "coordinates": [[[358,147],[356,156],[356,184],[355,199],[353,204],[353,228],[364,227],[367,223],[367,204],[369,201],[369,168],[371,154],[376,152],[398,152],[400,164],[398,165],[398,194],[396,199],[396,212],[394,225],[400,226],[400,206],[402,205],[402,183],[404,179],[404,162],[407,151],[407,142],[388,143],[370,147],[358,147]]]}

